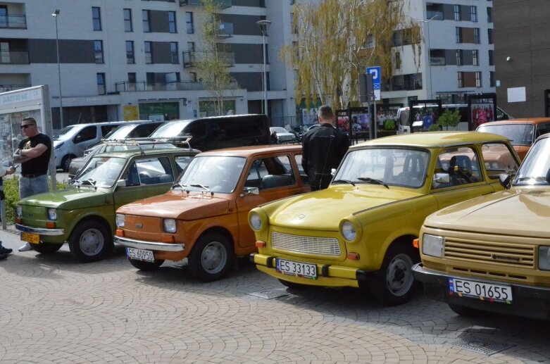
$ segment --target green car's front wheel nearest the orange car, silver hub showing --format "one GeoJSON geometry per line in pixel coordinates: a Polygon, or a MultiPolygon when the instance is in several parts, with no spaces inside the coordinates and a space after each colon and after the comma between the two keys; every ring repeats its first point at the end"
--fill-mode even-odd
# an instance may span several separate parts
{"type": "Polygon", "coordinates": [[[82,263],[99,261],[113,250],[113,237],[101,222],[80,222],[70,234],[69,249],[82,263]]]}

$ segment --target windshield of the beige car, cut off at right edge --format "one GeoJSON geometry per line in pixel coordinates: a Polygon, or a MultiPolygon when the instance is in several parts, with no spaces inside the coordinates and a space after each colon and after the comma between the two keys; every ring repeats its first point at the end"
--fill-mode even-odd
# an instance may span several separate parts
{"type": "Polygon", "coordinates": [[[550,139],[539,139],[515,175],[513,184],[550,184],[550,139]]]}

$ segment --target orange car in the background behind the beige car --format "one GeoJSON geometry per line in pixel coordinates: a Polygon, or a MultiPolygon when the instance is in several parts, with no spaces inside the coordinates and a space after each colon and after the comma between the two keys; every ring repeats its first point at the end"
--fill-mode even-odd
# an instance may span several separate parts
{"type": "Polygon", "coordinates": [[[520,159],[523,161],[535,139],[550,132],[550,118],[492,121],[478,126],[475,131],[504,135],[512,141],[515,151],[518,152],[520,159]]]}

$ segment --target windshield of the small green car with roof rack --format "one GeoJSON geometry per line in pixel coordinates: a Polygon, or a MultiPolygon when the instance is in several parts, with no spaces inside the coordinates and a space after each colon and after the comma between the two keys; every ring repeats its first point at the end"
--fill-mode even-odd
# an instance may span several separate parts
{"type": "Polygon", "coordinates": [[[76,175],[73,184],[78,186],[111,187],[118,181],[126,158],[97,156],[89,160],[76,175]]]}

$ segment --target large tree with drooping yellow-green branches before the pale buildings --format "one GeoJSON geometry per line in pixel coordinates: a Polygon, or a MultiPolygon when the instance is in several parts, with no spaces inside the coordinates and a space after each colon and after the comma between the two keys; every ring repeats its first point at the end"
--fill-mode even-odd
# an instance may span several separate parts
{"type": "MultiPolygon", "coordinates": [[[[413,47],[420,67],[422,37],[418,21],[405,11],[408,0],[321,0],[319,4],[295,4],[293,27],[298,40],[286,44],[282,59],[298,70],[296,103],[344,108],[358,101],[358,75],[367,65],[380,65],[389,80],[395,69],[394,31],[401,44],[413,47]],[[367,47],[368,46],[368,47],[367,47]]],[[[401,45],[402,47],[402,45],[401,45]]]]}

